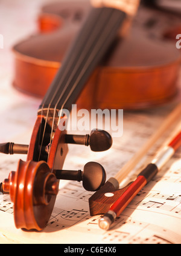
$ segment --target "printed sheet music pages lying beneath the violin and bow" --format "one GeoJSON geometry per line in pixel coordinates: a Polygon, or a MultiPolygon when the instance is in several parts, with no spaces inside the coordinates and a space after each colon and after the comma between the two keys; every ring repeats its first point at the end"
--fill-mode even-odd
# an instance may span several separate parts
{"type": "MultiPolygon", "coordinates": [[[[35,4],[35,1],[31,2],[35,4]]],[[[39,4],[42,2],[39,1],[39,4]]],[[[10,62],[9,57],[8,63],[10,62]]],[[[1,67],[0,142],[28,144],[40,99],[25,96],[11,87],[11,68],[8,65],[1,67]]],[[[179,87],[180,81],[181,79],[178,81],[179,87]]],[[[95,153],[89,147],[69,145],[64,169],[78,170],[88,161],[98,161],[106,169],[107,179],[113,177],[144,145],[180,99],[179,94],[177,99],[164,106],[139,112],[124,111],[123,135],[114,138],[110,150],[95,153]]],[[[160,138],[138,166],[135,166],[135,173],[132,173],[130,179],[153,157],[166,135],[168,134],[160,138]]],[[[19,158],[26,159],[25,155],[0,155],[0,181],[7,178],[11,170],[16,170],[19,158]]],[[[41,232],[16,229],[13,203],[9,195],[0,195],[0,243],[181,243],[180,159],[181,149],[136,195],[110,231],[103,231],[98,227],[100,215],[90,217],[88,200],[94,192],[84,190],[81,182],[60,182],[51,218],[41,232]]]]}

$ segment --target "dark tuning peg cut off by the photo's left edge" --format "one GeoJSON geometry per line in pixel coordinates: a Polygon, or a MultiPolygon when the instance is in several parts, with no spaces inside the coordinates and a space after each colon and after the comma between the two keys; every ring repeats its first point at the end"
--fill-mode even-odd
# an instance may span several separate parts
{"type": "Polygon", "coordinates": [[[28,145],[24,144],[14,144],[13,142],[1,143],[0,144],[0,153],[6,153],[13,155],[14,153],[27,154],[28,145]]]}

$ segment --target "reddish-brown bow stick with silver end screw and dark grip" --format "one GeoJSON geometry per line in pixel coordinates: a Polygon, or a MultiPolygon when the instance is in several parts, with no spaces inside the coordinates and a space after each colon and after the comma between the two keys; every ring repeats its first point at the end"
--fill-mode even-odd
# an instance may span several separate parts
{"type": "Polygon", "coordinates": [[[164,149],[156,155],[156,157],[143,169],[123,194],[110,206],[109,211],[104,214],[98,221],[101,229],[108,230],[111,224],[115,221],[125,207],[132,201],[138,192],[151,181],[151,179],[159,172],[159,170],[167,163],[168,160],[174,155],[177,149],[181,146],[181,129],[174,138],[168,143],[164,149]]]}

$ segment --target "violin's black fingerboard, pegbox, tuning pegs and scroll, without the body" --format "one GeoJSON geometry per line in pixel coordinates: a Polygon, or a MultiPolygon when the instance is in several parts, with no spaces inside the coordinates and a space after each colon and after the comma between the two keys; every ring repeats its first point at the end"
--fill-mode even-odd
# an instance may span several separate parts
{"type": "MultiPolygon", "coordinates": [[[[137,5],[136,5],[137,7],[137,5]]],[[[37,110],[30,145],[0,144],[2,153],[25,153],[16,172],[10,172],[1,184],[14,203],[17,228],[42,230],[51,216],[60,180],[83,181],[83,187],[95,191],[103,186],[106,172],[99,163],[89,162],[81,170],[62,170],[68,143],[84,144],[94,151],[107,150],[112,138],[104,130],[90,135],[66,134],[68,116],[83,86],[115,39],[127,13],[112,7],[92,7],[72,42],[56,77],[37,110]]],[[[88,96],[87,96],[88,97],[88,96]]]]}

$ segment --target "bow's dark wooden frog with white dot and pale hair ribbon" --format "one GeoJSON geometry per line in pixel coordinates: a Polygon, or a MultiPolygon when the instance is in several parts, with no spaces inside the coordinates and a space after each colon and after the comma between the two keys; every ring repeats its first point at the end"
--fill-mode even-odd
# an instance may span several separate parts
{"type": "Polygon", "coordinates": [[[144,144],[143,147],[133,156],[133,158],[127,162],[115,177],[109,178],[107,182],[101,187],[100,190],[95,192],[89,198],[89,211],[90,215],[106,214],[109,211],[110,206],[118,200],[119,197],[130,187],[130,184],[119,189],[119,184],[122,180],[133,170],[136,164],[141,161],[142,157],[148,152],[148,150],[156,143],[157,140],[176,122],[181,115],[181,104],[167,116],[159,129],[150,137],[150,139],[144,144]]]}

